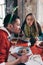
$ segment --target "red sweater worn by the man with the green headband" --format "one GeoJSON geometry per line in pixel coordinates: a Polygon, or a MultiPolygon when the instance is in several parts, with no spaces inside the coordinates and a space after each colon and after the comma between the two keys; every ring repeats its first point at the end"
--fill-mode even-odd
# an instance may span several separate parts
{"type": "Polygon", "coordinates": [[[7,36],[8,33],[0,29],[0,63],[6,62],[8,58],[10,42],[7,36]]]}

